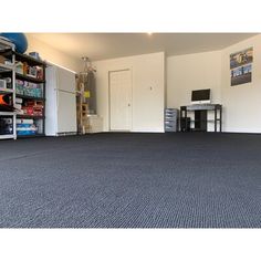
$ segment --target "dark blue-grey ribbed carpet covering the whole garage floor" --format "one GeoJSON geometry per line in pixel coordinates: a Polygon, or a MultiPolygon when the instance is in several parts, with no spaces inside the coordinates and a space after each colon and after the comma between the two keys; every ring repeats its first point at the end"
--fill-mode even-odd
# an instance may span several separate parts
{"type": "Polygon", "coordinates": [[[0,142],[1,228],[261,228],[261,135],[0,142]]]}

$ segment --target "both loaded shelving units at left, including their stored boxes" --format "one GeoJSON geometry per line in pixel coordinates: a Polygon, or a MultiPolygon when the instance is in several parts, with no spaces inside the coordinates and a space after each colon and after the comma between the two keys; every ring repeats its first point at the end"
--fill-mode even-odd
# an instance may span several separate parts
{"type": "Polygon", "coordinates": [[[0,36],[0,138],[44,135],[45,66],[0,36]]]}

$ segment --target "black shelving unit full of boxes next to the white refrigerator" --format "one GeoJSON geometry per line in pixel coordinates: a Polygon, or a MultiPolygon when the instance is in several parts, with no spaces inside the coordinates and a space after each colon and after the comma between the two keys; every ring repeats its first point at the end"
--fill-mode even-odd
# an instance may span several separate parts
{"type": "Polygon", "coordinates": [[[45,66],[40,59],[15,53],[17,134],[44,135],[45,66]]]}

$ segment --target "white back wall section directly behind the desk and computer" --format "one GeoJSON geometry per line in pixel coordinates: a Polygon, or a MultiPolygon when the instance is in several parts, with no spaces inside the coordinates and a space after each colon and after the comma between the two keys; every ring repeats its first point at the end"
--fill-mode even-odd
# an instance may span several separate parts
{"type": "MultiPolygon", "coordinates": [[[[211,102],[221,103],[220,51],[167,59],[167,107],[189,105],[191,91],[200,88],[211,88],[211,102]]],[[[208,118],[213,118],[213,114],[209,113],[208,118]]],[[[213,130],[213,124],[208,124],[208,130],[213,130]]]]}

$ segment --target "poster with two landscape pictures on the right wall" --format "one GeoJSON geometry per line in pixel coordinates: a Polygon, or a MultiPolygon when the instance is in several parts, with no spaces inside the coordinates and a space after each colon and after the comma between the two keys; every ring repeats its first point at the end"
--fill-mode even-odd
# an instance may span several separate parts
{"type": "Polygon", "coordinates": [[[253,48],[230,54],[231,86],[252,82],[253,48]]]}

